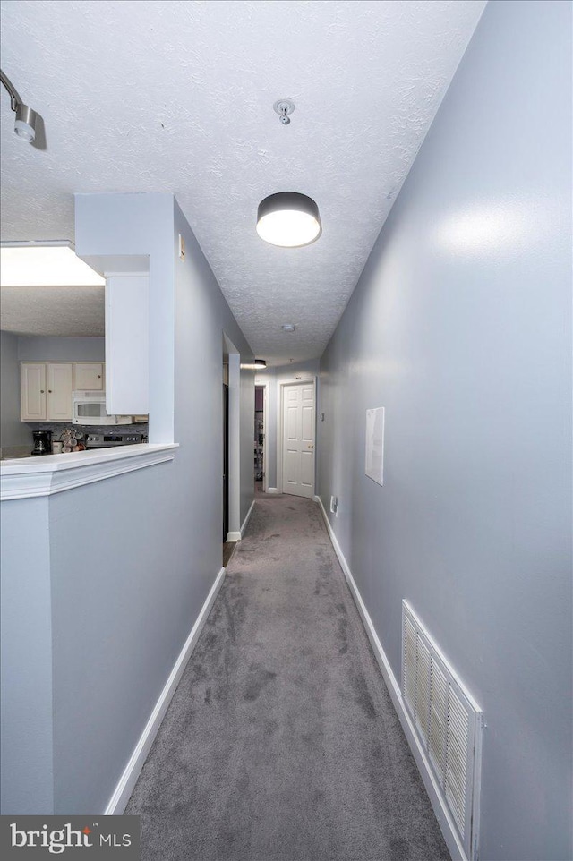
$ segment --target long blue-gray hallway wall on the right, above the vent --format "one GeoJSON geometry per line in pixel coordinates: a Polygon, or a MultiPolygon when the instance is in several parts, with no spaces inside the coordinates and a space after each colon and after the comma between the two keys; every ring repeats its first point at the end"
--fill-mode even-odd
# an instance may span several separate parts
{"type": "Polygon", "coordinates": [[[572,857],[570,190],[571,5],[491,2],[321,360],[321,499],[394,675],[407,598],[485,711],[483,861],[572,857]]]}

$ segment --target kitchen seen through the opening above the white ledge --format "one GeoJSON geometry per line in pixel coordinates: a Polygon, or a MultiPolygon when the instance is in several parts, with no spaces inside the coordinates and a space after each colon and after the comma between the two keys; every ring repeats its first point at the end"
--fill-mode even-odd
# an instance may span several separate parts
{"type": "MultiPolygon", "coordinates": [[[[145,409],[147,399],[130,392],[138,381],[146,390],[147,359],[141,338],[129,342],[124,328],[115,353],[110,346],[105,279],[67,242],[2,243],[0,260],[0,459],[147,443],[147,414],[107,412],[117,393],[118,352],[130,369],[120,397],[129,404],[125,412],[145,409]]],[[[122,284],[108,295],[110,319],[140,332],[136,310],[145,303],[127,294],[122,284]]]]}

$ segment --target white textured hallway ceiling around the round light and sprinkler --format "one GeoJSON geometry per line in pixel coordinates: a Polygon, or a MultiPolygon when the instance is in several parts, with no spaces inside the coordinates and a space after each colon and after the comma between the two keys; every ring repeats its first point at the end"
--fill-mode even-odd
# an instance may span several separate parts
{"type": "Polygon", "coordinates": [[[47,149],[3,90],[2,238],[73,240],[74,192],[174,192],[255,354],[318,356],[484,5],[3,0],[3,69],[47,149]],[[318,202],[317,243],[259,239],[278,191],[318,202]]]}

